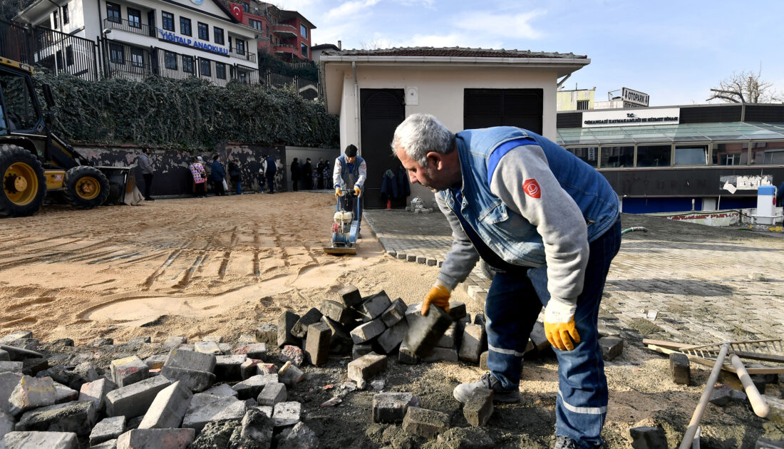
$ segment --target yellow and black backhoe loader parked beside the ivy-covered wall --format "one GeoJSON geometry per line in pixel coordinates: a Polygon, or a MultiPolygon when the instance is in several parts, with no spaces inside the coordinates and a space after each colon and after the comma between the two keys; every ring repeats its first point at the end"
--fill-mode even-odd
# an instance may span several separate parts
{"type": "Polygon", "coordinates": [[[77,208],[138,202],[133,166],[95,166],[54,135],[52,89],[41,85],[42,111],[32,74],[31,66],[0,57],[0,216],[33,215],[47,192],[62,192],[77,208]]]}

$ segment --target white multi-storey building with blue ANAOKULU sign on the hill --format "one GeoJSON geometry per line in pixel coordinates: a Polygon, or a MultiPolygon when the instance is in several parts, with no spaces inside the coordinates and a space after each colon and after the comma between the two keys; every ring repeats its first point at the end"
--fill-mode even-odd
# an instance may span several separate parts
{"type": "MultiPolygon", "coordinates": [[[[258,31],[216,0],[38,0],[15,20],[100,42],[96,63],[114,77],[258,82],[258,31]]],[[[58,71],[69,71],[80,53],[93,53],[68,40],[50,47],[38,52],[36,62],[51,58],[47,65],[58,71]]]]}

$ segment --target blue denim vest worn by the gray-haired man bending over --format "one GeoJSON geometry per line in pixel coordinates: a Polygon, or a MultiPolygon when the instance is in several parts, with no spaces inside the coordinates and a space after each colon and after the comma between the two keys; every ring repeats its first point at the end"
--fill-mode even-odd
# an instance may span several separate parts
{"type": "MultiPolygon", "coordinates": [[[[488,165],[496,164],[493,151],[506,142],[538,144],[558,183],[577,203],[588,226],[588,241],[601,237],[619,219],[618,195],[590,165],[549,139],[525,129],[508,126],[467,129],[457,133],[457,151],[463,171],[463,204],[456,209],[449,190],[438,194],[456,214],[462,214],[495,254],[508,263],[524,266],[546,264],[542,237],[523,216],[506,208],[490,191],[488,165]]],[[[516,143],[507,144],[512,147],[516,143]]],[[[497,157],[496,157],[497,159],[497,157]]]]}

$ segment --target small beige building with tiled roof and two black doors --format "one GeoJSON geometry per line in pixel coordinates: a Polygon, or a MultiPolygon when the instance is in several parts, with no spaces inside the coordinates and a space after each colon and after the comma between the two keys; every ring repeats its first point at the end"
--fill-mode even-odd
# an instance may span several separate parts
{"type": "MultiPolygon", "coordinates": [[[[365,205],[383,207],[380,185],[394,129],[408,115],[434,114],[453,132],[515,125],[556,139],[559,78],[590,63],[572,53],[505,49],[399,48],[325,51],[321,84],[328,111],[340,115],[340,145],[368,162],[365,205]]],[[[432,198],[412,186],[412,196],[432,198]]]]}

